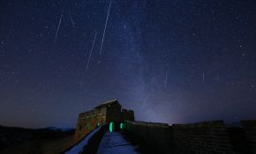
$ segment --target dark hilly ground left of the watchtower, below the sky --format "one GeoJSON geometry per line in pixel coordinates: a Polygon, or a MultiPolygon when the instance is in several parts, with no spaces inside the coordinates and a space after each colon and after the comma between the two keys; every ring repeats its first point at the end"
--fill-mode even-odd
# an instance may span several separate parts
{"type": "Polygon", "coordinates": [[[54,154],[72,146],[74,130],[0,126],[1,154],[54,154]]]}

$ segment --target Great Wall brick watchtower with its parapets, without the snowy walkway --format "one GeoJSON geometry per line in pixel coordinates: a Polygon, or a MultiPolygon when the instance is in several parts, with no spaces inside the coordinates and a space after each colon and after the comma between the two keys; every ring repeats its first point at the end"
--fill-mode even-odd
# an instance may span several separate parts
{"type": "MultiPolygon", "coordinates": [[[[82,153],[96,153],[99,146],[101,147],[104,134],[112,130],[120,132],[120,136],[124,138],[129,135],[130,139],[143,143],[146,149],[148,147],[147,153],[256,153],[256,121],[248,120],[240,123],[240,127],[226,127],[224,121],[169,126],[167,123],[134,121],[133,111],[122,109],[117,99],[114,99],[96,106],[91,111],[79,114],[74,146],[102,126],[94,136],[88,138],[82,153]]],[[[71,149],[72,147],[69,150],[71,149]]],[[[64,153],[66,151],[68,150],[64,153]]]]}

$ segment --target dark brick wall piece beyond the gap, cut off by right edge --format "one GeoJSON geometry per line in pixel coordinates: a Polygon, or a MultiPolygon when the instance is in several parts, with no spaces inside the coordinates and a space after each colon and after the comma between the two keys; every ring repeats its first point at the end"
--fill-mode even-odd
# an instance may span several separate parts
{"type": "Polygon", "coordinates": [[[245,135],[254,153],[256,153],[256,121],[241,121],[245,135]]]}

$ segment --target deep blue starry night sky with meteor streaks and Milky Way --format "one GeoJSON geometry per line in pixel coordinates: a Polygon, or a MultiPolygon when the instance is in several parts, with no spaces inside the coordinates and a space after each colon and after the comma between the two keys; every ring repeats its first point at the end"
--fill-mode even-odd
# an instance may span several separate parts
{"type": "Polygon", "coordinates": [[[74,127],[108,99],[138,121],[256,119],[256,1],[109,2],[0,1],[0,125],[74,127]]]}

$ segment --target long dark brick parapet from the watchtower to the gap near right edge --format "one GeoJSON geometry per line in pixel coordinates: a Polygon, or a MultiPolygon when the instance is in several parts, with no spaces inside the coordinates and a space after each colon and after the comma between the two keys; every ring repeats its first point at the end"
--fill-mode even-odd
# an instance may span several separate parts
{"type": "Polygon", "coordinates": [[[223,121],[193,124],[125,121],[125,128],[161,153],[235,153],[223,121]]]}

